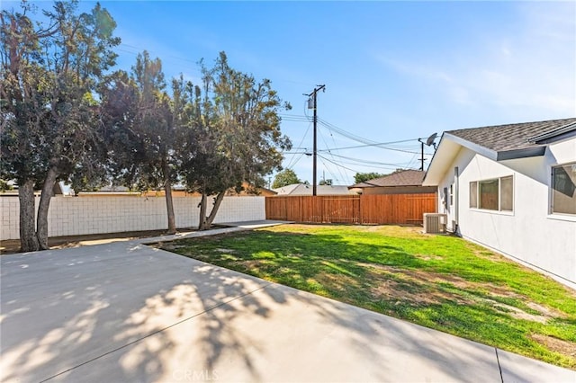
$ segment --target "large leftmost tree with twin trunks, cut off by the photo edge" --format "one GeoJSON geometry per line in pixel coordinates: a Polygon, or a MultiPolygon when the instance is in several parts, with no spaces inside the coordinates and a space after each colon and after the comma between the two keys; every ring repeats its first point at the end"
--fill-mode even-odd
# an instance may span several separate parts
{"type": "Polygon", "coordinates": [[[97,167],[102,138],[92,94],[114,64],[112,16],[96,4],[56,2],[33,22],[34,4],[0,14],[2,156],[0,176],[18,183],[23,251],[48,248],[54,184],[97,167]],[[34,190],[41,188],[35,214],[34,190]]]}

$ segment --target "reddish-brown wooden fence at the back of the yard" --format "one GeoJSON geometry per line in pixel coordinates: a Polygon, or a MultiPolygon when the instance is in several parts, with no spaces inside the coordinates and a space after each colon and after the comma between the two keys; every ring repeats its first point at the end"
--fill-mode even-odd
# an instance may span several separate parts
{"type": "Polygon", "coordinates": [[[422,224],[436,193],[266,197],[266,219],[300,223],[422,224]]]}

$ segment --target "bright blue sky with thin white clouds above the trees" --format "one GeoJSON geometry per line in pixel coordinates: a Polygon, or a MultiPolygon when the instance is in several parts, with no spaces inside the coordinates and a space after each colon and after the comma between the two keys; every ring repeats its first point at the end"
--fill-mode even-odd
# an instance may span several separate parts
{"type": "Polygon", "coordinates": [[[335,184],[419,168],[417,138],[432,133],[576,116],[575,2],[101,4],[118,23],[118,67],[147,49],[167,79],[196,81],[197,61],[224,50],[232,67],[269,78],[293,105],[283,113],[294,146],[284,166],[310,182],[312,111],[302,94],[315,85],[326,85],[319,180],[335,184]],[[363,146],[396,141],[406,142],[363,146]]]}

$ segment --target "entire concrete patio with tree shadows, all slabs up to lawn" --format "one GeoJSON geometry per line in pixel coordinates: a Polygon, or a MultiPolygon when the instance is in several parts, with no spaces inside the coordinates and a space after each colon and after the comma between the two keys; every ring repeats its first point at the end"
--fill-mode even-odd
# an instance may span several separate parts
{"type": "Polygon", "coordinates": [[[0,262],[1,381],[576,381],[138,241],[0,262]]]}

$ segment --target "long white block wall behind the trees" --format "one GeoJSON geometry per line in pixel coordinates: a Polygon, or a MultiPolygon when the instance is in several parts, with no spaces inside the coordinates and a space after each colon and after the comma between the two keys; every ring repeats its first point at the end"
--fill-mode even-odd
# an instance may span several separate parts
{"type": "MultiPolygon", "coordinates": [[[[176,227],[197,227],[200,197],[173,200],[176,227]]],[[[19,209],[18,197],[0,197],[0,239],[20,237],[19,209]]],[[[53,197],[48,219],[49,236],[157,230],[165,229],[168,222],[164,197],[53,197]]],[[[261,219],[266,219],[265,197],[225,197],[214,223],[261,219]]]]}

